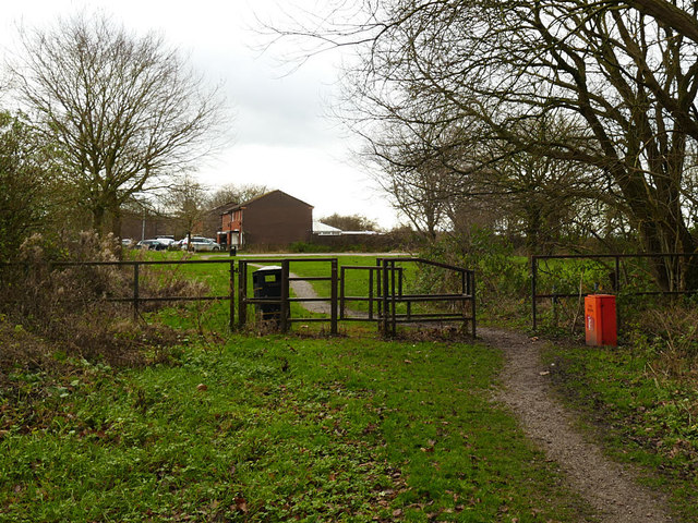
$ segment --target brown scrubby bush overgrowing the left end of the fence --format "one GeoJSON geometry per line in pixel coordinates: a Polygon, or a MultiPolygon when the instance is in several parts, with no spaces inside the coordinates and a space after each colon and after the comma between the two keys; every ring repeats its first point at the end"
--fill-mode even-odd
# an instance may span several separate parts
{"type": "MultiPolygon", "coordinates": [[[[154,350],[161,353],[160,349],[177,343],[180,335],[173,330],[134,320],[131,304],[105,300],[130,294],[131,270],[117,265],[72,265],[117,262],[119,254],[120,245],[111,235],[100,238],[83,232],[61,246],[40,235],[27,239],[20,250],[21,264],[5,266],[2,271],[0,343],[15,346],[21,342],[36,350],[25,354],[13,351],[12,357],[0,361],[0,366],[43,366],[46,358],[51,358],[47,354],[56,350],[87,360],[133,365],[152,357],[154,350]]],[[[202,287],[161,275],[144,280],[148,295],[157,294],[160,281],[165,281],[165,292],[198,292],[202,287]]]]}

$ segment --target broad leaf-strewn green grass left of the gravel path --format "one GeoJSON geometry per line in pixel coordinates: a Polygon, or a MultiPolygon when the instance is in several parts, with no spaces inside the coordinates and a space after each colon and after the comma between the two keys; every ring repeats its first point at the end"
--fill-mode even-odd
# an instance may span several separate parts
{"type": "Polygon", "coordinates": [[[578,521],[458,343],[236,337],[0,400],[0,521],[578,521]]]}

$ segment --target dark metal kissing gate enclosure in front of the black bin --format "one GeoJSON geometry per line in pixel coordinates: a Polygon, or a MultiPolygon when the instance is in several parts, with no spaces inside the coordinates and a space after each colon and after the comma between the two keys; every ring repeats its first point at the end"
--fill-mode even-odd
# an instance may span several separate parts
{"type": "MultiPolygon", "coordinates": [[[[292,323],[329,323],[330,332],[337,333],[339,321],[372,321],[384,335],[395,336],[400,324],[457,321],[476,336],[474,271],[416,257],[376,258],[375,265],[341,267],[337,258],[240,259],[239,327],[246,325],[250,306],[262,319],[276,321],[282,332],[292,323]],[[326,268],[316,270],[315,265],[315,276],[291,271],[291,264],[309,263],[326,264],[326,268]],[[456,292],[418,291],[412,280],[420,277],[426,280],[421,289],[430,282],[448,282],[456,292]],[[317,290],[311,282],[316,282],[317,290]]],[[[231,303],[231,327],[232,307],[231,303]]]]}

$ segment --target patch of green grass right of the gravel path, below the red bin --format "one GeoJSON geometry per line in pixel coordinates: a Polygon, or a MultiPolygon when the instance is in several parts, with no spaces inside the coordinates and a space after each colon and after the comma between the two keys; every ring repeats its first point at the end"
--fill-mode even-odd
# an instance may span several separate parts
{"type": "Polygon", "coordinates": [[[639,346],[559,348],[545,355],[563,398],[602,435],[607,452],[663,488],[684,521],[698,521],[698,389],[653,372],[639,346]]]}

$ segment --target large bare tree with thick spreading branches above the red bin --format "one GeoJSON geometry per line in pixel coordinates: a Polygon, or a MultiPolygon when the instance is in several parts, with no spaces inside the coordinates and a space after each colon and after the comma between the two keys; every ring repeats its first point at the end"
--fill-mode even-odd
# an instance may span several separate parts
{"type": "MultiPolygon", "coordinates": [[[[645,252],[693,253],[685,166],[698,139],[698,44],[652,11],[663,4],[358,0],[333,2],[335,24],[322,34],[292,33],[362,50],[348,98],[365,135],[376,121],[477,122],[494,150],[583,166],[598,200],[625,215],[645,252]],[[351,21],[341,19],[348,4],[351,21]],[[564,141],[527,131],[543,118],[569,123],[564,141]]],[[[695,17],[694,2],[674,5],[674,22],[695,17]]],[[[666,289],[698,288],[698,259],[658,258],[655,276],[666,289]]]]}

